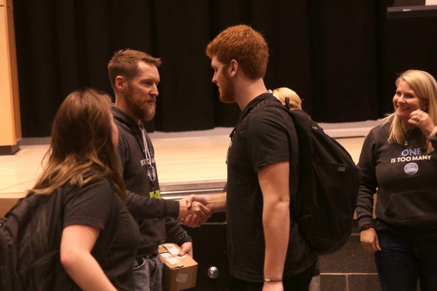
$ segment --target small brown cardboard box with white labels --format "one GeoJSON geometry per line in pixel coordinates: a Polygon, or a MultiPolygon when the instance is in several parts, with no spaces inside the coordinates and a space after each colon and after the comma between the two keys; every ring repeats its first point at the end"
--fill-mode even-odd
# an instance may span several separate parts
{"type": "Polygon", "coordinates": [[[198,264],[188,255],[179,257],[180,250],[176,243],[164,243],[159,246],[159,259],[163,262],[164,291],[179,291],[196,286],[198,264]]]}

